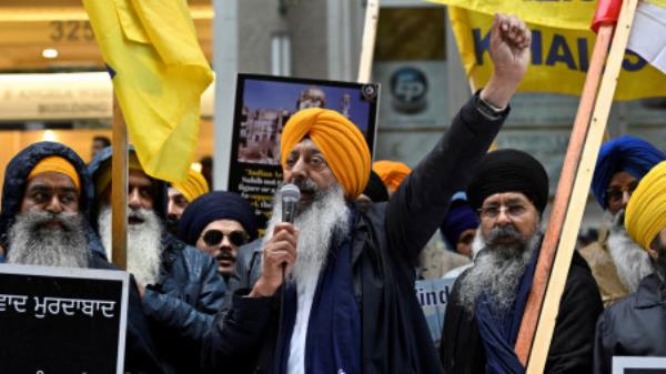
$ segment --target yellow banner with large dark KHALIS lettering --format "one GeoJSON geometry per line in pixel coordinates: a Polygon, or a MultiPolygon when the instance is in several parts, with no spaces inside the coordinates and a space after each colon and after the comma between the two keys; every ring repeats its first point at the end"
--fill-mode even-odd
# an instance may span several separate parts
{"type": "MultiPolygon", "coordinates": [[[[493,72],[488,54],[493,16],[448,7],[448,17],[467,77],[472,79],[475,88],[481,88],[486,84],[493,72]]],[[[532,64],[518,91],[579,95],[589,65],[595,33],[534,23],[528,26],[532,30],[532,64]]],[[[615,100],[654,97],[666,97],[666,74],[637,54],[627,51],[615,100]]]]}

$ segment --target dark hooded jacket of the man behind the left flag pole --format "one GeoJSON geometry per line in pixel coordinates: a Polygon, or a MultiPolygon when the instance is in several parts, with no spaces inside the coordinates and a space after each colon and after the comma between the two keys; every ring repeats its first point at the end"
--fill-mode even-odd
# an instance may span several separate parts
{"type": "MultiPolygon", "coordinates": [[[[99,171],[105,168],[110,158],[111,148],[107,148],[91,161],[89,171],[93,180],[99,178],[99,171]]],[[[167,215],[167,184],[153,182],[153,208],[163,219],[167,215]]],[[[99,211],[98,203],[93,204],[93,212],[99,211]]],[[[163,231],[160,275],[155,284],[147,285],[142,302],[160,355],[170,366],[169,372],[199,372],[201,340],[222,307],[225,291],[218,263],[211,255],[163,231]]]]}

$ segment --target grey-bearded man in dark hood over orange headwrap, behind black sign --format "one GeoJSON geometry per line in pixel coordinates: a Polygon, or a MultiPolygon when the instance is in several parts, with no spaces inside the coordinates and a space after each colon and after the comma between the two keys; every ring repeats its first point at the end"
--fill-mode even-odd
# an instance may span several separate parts
{"type": "MultiPolygon", "coordinates": [[[[12,264],[117,270],[90,229],[93,186],[68,146],[31,144],[7,165],[0,245],[12,264]]],[[[162,373],[134,280],[131,279],[124,370],[162,373]]],[[[26,347],[29,350],[30,347],[26,347]]]]}

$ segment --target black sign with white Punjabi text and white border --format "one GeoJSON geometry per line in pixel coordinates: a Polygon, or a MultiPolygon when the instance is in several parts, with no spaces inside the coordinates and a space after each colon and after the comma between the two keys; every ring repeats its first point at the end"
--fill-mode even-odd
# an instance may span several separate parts
{"type": "Polygon", "coordinates": [[[2,373],[120,374],[129,275],[0,265],[2,373]]]}

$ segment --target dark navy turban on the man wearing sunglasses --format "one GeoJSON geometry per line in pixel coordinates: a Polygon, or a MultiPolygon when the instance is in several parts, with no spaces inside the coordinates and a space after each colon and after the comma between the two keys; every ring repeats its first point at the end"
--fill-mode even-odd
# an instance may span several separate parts
{"type": "Polygon", "coordinates": [[[178,236],[195,245],[203,229],[218,220],[238,221],[250,240],[256,239],[254,210],[239,194],[226,191],[213,191],[194,199],[181,216],[178,236]]]}

